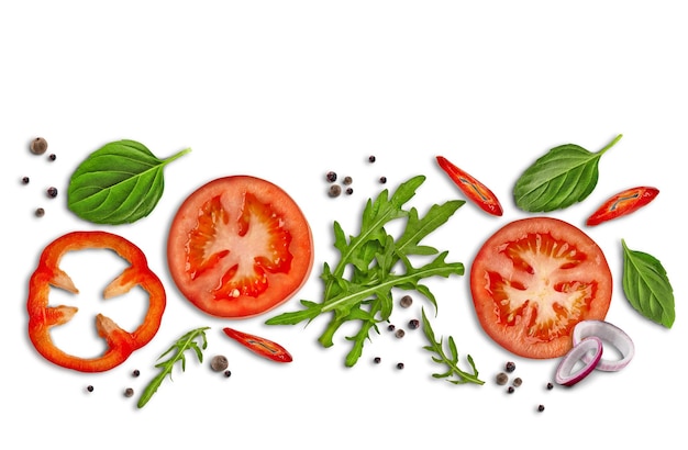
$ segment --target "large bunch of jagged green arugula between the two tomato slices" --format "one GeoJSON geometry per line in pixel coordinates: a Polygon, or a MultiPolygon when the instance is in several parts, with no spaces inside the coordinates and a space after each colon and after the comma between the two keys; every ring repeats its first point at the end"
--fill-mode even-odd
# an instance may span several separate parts
{"type": "Polygon", "coordinates": [[[435,204],[422,217],[414,207],[404,209],[403,205],[424,181],[425,177],[417,176],[401,183],[391,196],[384,190],[375,200],[369,199],[363,211],[358,235],[347,238],[341,225],[334,222],[334,247],[340,252],[340,260],[334,269],[326,262],[323,265],[321,280],[324,293],[321,302],[301,300],[304,308],[271,317],[266,324],[310,323],[330,313],[330,323],[318,339],[328,348],[333,345],[333,337],[342,325],[359,322],[359,330],[346,337],[353,344],[345,364],[353,367],[369,339],[370,330],[379,333],[377,324],[391,315],[393,289],[414,290],[436,307],[434,295],[422,281],[430,277],[462,275],[464,265],[447,262],[446,251],[439,252],[433,247],[421,245],[421,240],[446,223],[465,202],[453,200],[435,204]],[[404,223],[397,239],[385,228],[392,221],[404,223]],[[432,256],[434,258],[423,265],[411,261],[412,257],[432,256]],[[346,278],[345,273],[351,274],[346,278]]]}

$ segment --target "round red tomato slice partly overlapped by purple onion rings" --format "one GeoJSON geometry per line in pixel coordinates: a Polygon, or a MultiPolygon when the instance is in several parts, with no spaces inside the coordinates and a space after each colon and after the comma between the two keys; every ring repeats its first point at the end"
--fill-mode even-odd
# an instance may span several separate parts
{"type": "Polygon", "coordinates": [[[585,319],[602,320],[612,277],[604,254],[564,221],[530,217],[497,230],[470,268],[470,292],[480,325],[514,355],[558,358],[585,319]]]}

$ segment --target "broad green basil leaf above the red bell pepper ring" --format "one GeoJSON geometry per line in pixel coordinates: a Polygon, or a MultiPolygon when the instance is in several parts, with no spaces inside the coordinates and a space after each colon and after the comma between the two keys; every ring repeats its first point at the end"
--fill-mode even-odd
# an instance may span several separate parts
{"type": "Polygon", "coordinates": [[[67,207],[95,224],[120,225],[145,217],[163,195],[164,167],[190,150],[158,159],[135,140],[106,144],[71,175],[67,207]]]}

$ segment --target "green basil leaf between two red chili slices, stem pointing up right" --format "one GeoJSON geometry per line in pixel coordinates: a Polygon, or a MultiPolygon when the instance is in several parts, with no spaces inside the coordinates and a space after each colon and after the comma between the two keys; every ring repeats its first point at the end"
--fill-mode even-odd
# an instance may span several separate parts
{"type": "Polygon", "coordinates": [[[548,212],[585,200],[597,185],[600,157],[621,136],[598,153],[575,144],[550,149],[517,180],[513,188],[517,206],[528,212],[548,212]]]}

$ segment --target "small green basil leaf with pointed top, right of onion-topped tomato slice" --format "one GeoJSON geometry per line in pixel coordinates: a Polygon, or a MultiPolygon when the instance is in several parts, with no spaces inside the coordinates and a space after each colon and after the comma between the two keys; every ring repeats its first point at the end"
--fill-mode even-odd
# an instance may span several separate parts
{"type": "Polygon", "coordinates": [[[655,257],[623,246],[623,292],[644,317],[667,328],[676,318],[674,290],[666,270],[655,257]]]}

